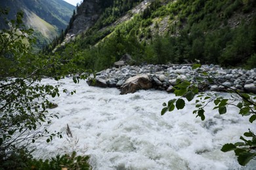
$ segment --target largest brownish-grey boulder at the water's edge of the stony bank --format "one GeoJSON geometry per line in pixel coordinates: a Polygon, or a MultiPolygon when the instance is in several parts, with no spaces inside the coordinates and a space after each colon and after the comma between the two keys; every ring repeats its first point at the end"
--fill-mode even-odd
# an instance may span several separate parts
{"type": "Polygon", "coordinates": [[[150,88],[152,88],[152,82],[148,75],[137,75],[125,81],[120,88],[120,94],[134,93],[137,90],[147,90],[150,88]]]}

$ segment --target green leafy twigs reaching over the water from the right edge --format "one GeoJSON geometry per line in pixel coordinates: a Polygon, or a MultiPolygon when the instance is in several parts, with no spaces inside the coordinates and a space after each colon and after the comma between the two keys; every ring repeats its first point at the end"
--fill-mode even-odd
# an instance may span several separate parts
{"type": "MultiPolygon", "coordinates": [[[[203,67],[203,69],[198,69],[198,67],[201,67],[201,65],[195,64],[193,66],[193,68],[197,69],[198,73],[200,73],[200,76],[196,77],[196,82],[192,82],[191,80],[177,80],[174,93],[176,96],[180,97],[178,99],[171,99],[168,103],[163,103],[161,115],[168,111],[171,112],[175,108],[178,110],[184,109],[186,105],[184,98],[186,98],[187,101],[196,99],[196,109],[193,111],[193,114],[196,114],[196,117],[199,116],[201,120],[205,120],[205,107],[208,103],[214,103],[215,107],[213,107],[213,110],[217,109],[219,114],[226,114],[228,111],[227,107],[232,105],[239,109],[238,114],[250,116],[249,122],[251,124],[255,123],[256,97],[247,93],[240,93],[229,87],[225,87],[228,89],[228,92],[232,94],[231,98],[228,99],[218,96],[216,93],[199,93],[202,84],[220,85],[220,83],[214,75],[211,75],[206,69],[203,67]]],[[[255,160],[256,158],[256,135],[249,129],[248,132],[244,133],[244,136],[246,139],[245,137],[240,137],[243,142],[224,144],[221,148],[223,152],[234,150],[236,156],[238,156],[238,163],[240,163],[240,165],[246,165],[250,160],[255,160]]]]}

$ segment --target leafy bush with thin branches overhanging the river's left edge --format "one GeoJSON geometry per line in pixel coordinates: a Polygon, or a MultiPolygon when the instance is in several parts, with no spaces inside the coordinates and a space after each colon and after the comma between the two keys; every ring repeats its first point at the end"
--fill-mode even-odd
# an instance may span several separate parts
{"type": "Polygon", "coordinates": [[[18,12],[15,20],[6,21],[10,29],[0,31],[0,164],[15,162],[17,167],[24,164],[24,157],[30,156],[24,150],[26,146],[39,137],[45,137],[47,143],[54,136],[62,137],[59,132],[47,130],[51,118],[58,117],[48,112],[54,107],[51,98],[60,95],[58,86],[41,84],[41,79],[51,76],[59,80],[73,75],[77,83],[89,75],[73,59],[33,54],[33,30],[24,28],[22,17],[23,12],[18,12]]]}

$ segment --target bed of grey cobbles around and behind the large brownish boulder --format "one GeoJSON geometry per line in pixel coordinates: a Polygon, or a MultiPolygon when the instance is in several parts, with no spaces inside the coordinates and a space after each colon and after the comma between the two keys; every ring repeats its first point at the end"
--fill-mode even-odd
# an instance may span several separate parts
{"type": "MultiPolygon", "coordinates": [[[[217,81],[223,86],[217,86],[215,84],[209,84],[209,88],[205,90],[222,91],[226,87],[234,87],[240,92],[256,93],[256,69],[223,69],[219,65],[203,65],[206,71],[209,71],[211,75],[217,78],[217,81]]],[[[96,73],[96,78],[107,81],[108,86],[120,87],[125,80],[136,75],[148,75],[152,82],[154,82],[154,88],[158,90],[166,90],[172,92],[173,86],[176,84],[176,79],[190,80],[194,83],[196,78],[205,78],[207,76],[198,74],[198,71],[205,71],[202,68],[197,70],[192,69],[192,65],[140,65],[130,66],[125,65],[120,68],[110,68],[96,73]]]]}

